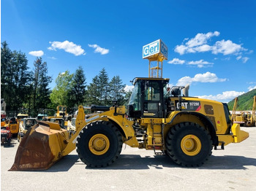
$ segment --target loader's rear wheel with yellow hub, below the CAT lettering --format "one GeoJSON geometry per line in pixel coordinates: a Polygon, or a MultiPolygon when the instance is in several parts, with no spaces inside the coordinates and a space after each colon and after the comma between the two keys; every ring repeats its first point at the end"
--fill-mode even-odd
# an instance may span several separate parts
{"type": "Polygon", "coordinates": [[[211,156],[212,140],[208,131],[193,122],[181,122],[166,136],[167,154],[181,166],[200,166],[211,156]]]}

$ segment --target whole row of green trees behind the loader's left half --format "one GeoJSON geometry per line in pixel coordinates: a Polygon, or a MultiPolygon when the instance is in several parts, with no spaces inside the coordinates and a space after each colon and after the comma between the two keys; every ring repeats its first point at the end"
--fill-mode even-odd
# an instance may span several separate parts
{"type": "Polygon", "coordinates": [[[48,64],[39,57],[29,69],[28,62],[25,53],[10,50],[7,42],[1,42],[1,100],[7,104],[7,116],[23,112],[36,117],[43,109],[56,110],[59,105],[67,106],[67,112],[74,112],[79,105],[111,106],[113,100],[122,105],[131,93],[124,91],[118,75],[109,79],[105,68],[87,84],[82,66],[74,74],[59,72],[51,90],[48,64]]]}

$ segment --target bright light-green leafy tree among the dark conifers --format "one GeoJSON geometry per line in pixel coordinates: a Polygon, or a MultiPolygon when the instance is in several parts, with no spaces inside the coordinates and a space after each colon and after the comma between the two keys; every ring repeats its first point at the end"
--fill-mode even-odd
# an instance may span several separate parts
{"type": "Polygon", "coordinates": [[[69,74],[69,71],[64,73],[59,73],[59,76],[56,78],[56,86],[53,88],[52,93],[50,93],[50,101],[53,106],[69,104],[69,92],[71,89],[71,81],[73,74],[69,74]]]}

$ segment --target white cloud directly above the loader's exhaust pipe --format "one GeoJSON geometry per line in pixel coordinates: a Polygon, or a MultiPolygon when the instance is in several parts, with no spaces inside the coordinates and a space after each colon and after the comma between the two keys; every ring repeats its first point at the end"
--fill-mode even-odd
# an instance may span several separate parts
{"type": "Polygon", "coordinates": [[[192,82],[225,82],[227,79],[218,78],[216,74],[207,71],[204,74],[195,74],[195,77],[182,77],[178,79],[177,85],[187,85],[192,84],[192,82]]]}

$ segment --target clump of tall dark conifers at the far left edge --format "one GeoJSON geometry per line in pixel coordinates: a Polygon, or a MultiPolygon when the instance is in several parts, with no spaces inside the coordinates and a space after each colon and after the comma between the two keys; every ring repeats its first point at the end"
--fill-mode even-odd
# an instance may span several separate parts
{"type": "Polygon", "coordinates": [[[7,110],[17,112],[26,104],[31,75],[28,72],[26,55],[12,52],[7,42],[1,43],[1,98],[7,103],[7,110]]]}

